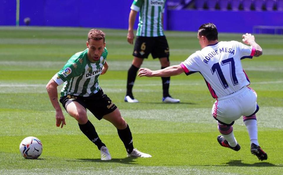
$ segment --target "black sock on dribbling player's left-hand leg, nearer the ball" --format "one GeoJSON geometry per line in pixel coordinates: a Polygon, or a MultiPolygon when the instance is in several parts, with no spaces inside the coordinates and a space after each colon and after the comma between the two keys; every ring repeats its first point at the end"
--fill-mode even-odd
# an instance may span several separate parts
{"type": "Polygon", "coordinates": [[[99,150],[101,146],[105,146],[105,144],[99,139],[93,124],[89,120],[86,122],[86,124],[79,124],[79,127],[84,135],[86,135],[87,138],[89,138],[89,140],[92,141],[99,150]]]}

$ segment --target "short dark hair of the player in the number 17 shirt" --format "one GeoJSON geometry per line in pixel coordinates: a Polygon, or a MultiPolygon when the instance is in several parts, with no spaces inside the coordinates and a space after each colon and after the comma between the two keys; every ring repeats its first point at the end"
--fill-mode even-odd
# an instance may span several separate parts
{"type": "Polygon", "coordinates": [[[218,31],[214,24],[206,23],[199,27],[199,36],[205,36],[209,41],[218,39],[218,31]]]}

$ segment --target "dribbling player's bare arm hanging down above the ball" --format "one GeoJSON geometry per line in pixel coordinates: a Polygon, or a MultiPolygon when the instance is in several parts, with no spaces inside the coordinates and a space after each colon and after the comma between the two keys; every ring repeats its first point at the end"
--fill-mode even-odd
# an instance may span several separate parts
{"type": "Polygon", "coordinates": [[[66,122],[62,109],[58,102],[57,86],[58,84],[53,79],[51,79],[46,85],[46,90],[48,92],[50,101],[54,109],[56,110],[56,126],[59,127],[61,125],[61,128],[63,128],[63,126],[66,125],[66,122]]]}

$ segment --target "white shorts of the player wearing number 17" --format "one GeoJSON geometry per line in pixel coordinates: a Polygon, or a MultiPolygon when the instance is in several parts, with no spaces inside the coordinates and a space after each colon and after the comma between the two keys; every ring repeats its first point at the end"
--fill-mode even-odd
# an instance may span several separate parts
{"type": "Polygon", "coordinates": [[[241,116],[250,116],[257,110],[257,93],[250,87],[218,98],[212,107],[212,116],[224,124],[232,124],[241,116]]]}

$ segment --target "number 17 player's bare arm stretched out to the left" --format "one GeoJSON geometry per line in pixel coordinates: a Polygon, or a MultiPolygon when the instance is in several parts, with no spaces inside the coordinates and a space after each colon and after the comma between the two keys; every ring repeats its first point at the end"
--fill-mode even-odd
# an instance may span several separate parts
{"type": "Polygon", "coordinates": [[[174,65],[169,66],[165,69],[160,69],[157,71],[152,71],[147,68],[141,68],[139,69],[138,76],[147,76],[147,77],[153,77],[153,76],[160,76],[160,77],[168,77],[168,76],[175,76],[182,74],[184,72],[183,68],[180,65],[174,65]]]}

